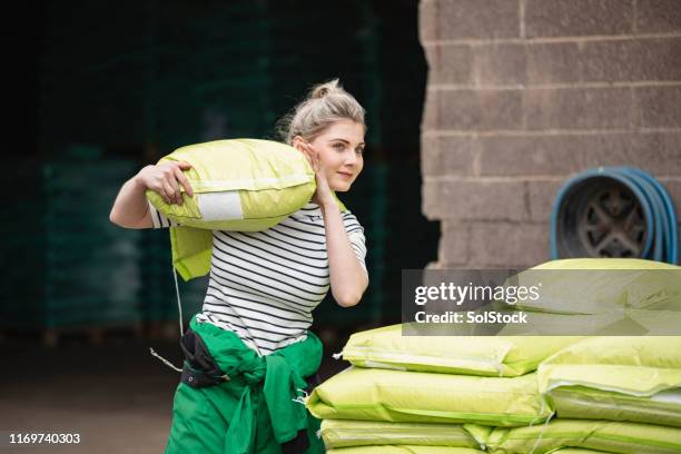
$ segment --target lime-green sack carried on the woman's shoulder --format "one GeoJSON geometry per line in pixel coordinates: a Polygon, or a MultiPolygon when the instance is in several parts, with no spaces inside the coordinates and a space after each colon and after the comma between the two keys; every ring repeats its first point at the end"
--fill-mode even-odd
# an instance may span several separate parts
{"type": "Polygon", "coordinates": [[[180,185],[182,205],[146,196],[166,217],[181,224],[170,227],[172,264],[185,279],[210,269],[213,229],[258,231],[282,221],[309,201],[316,189],[307,158],[284,144],[234,139],[181,147],[160,162],[186,161],[194,196],[180,185]]]}

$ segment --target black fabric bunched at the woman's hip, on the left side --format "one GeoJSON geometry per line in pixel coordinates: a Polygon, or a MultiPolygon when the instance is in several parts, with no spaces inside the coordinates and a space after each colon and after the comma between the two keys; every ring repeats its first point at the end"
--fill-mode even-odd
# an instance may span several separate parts
{"type": "Polygon", "coordinates": [[[225,373],[206,348],[204,339],[191,328],[180,338],[185,364],[180,382],[195,387],[206,387],[227,382],[225,373]]]}

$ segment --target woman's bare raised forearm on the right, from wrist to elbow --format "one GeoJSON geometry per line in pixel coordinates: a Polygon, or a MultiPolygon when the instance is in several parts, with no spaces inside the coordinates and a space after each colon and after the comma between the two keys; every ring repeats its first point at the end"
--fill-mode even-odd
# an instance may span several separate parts
{"type": "Polygon", "coordinates": [[[368,276],[347,237],[336,200],[326,200],[319,207],[326,229],[332,295],[340,306],[351,307],[362,299],[368,286],[368,276]]]}

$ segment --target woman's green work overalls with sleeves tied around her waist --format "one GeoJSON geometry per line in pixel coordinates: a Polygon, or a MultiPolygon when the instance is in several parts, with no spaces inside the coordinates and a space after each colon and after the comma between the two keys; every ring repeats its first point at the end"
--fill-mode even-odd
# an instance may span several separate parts
{"type": "MultiPolygon", "coordinates": [[[[172,409],[166,453],[323,453],[315,432],[319,422],[308,414],[303,398],[307,383],[322,362],[322,342],[307,338],[259,356],[229,330],[208,323],[189,324],[203,340],[203,354],[219,371],[217,384],[194,387],[195,376],[182,374],[172,409]],[[300,432],[304,431],[304,432],[300,432]],[[296,447],[297,446],[297,447],[296,447]]],[[[197,354],[201,359],[201,353],[197,354]]],[[[185,372],[191,365],[185,362],[185,372]]],[[[197,371],[193,371],[197,372],[197,371]]],[[[200,372],[199,376],[200,376],[200,372]]],[[[210,372],[211,374],[215,371],[210,372]]]]}

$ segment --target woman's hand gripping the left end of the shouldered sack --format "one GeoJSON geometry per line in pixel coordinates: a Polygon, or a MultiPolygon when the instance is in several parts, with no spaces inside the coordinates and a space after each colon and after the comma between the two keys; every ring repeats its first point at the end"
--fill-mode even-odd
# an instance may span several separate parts
{"type": "Polygon", "coordinates": [[[194,190],[182,174],[189,170],[191,165],[185,161],[161,162],[147,166],[141,169],[136,178],[147,188],[164,198],[166,204],[182,205],[182,195],[179,185],[182,185],[189,197],[194,196],[194,190]]]}

